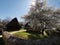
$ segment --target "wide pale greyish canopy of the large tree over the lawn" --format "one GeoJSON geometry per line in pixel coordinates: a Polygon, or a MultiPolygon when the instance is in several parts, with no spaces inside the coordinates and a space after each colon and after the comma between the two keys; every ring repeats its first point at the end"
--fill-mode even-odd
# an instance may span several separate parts
{"type": "Polygon", "coordinates": [[[53,8],[45,5],[45,2],[37,0],[35,6],[32,5],[28,14],[23,17],[25,21],[30,22],[29,25],[33,31],[52,30],[59,23],[60,9],[53,10],[53,8]]]}

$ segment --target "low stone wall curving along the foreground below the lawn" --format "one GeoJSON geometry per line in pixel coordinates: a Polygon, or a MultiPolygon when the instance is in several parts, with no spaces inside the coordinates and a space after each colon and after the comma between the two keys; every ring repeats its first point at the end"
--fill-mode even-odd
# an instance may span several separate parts
{"type": "Polygon", "coordinates": [[[56,43],[59,42],[57,40],[58,38],[56,37],[52,37],[52,39],[45,38],[45,39],[37,39],[37,40],[33,40],[33,39],[24,40],[14,37],[6,31],[4,31],[2,35],[6,45],[60,45],[56,43]]]}

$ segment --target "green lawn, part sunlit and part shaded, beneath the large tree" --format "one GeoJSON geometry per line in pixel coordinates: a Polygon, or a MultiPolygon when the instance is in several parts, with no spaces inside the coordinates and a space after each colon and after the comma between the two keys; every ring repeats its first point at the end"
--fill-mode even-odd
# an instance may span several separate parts
{"type": "Polygon", "coordinates": [[[44,35],[38,33],[28,33],[25,29],[21,29],[19,32],[14,34],[18,38],[22,39],[41,39],[47,36],[47,33],[44,31],[44,35]]]}

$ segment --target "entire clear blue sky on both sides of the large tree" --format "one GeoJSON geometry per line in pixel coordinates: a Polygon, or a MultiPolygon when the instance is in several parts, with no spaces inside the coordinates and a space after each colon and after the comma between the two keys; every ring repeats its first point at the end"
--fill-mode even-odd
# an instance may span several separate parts
{"type": "MultiPolygon", "coordinates": [[[[0,0],[0,18],[20,17],[28,12],[31,0],[0,0]]],[[[60,7],[60,0],[48,0],[48,5],[60,7]]]]}

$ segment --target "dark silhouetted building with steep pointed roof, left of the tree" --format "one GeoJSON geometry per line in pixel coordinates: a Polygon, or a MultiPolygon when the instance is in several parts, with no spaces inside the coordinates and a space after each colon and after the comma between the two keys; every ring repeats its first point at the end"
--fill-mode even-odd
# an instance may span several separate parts
{"type": "Polygon", "coordinates": [[[18,31],[20,28],[21,25],[19,25],[17,18],[12,19],[8,24],[6,24],[7,31],[18,31]]]}

